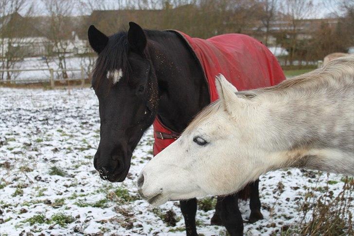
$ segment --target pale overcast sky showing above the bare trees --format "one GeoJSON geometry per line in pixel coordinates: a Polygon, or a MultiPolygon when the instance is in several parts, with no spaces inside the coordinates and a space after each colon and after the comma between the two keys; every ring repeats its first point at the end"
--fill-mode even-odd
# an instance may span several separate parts
{"type": "MultiPolygon", "coordinates": [[[[282,0],[278,0],[281,2],[282,0]]],[[[338,3],[340,0],[313,0],[314,4],[316,5],[315,11],[309,18],[326,18],[328,17],[331,13],[335,12],[336,14],[339,13],[338,9],[338,3]]],[[[35,15],[36,16],[46,16],[48,13],[45,10],[45,4],[48,4],[50,1],[46,0],[28,0],[27,3],[33,3],[35,5],[35,15]]],[[[124,5],[125,0],[81,0],[81,2],[88,3],[91,2],[96,5],[95,8],[97,10],[100,8],[100,5],[105,5],[105,8],[107,10],[117,10],[119,9],[119,6],[124,5]],[[103,3],[102,3],[103,2],[103,3]]],[[[91,10],[89,8],[82,7],[82,5],[77,4],[78,1],[74,2],[72,4],[73,6],[73,11],[72,15],[73,16],[80,16],[80,15],[90,15],[91,10]],[[76,4],[75,4],[76,3],[76,4]]],[[[96,9],[95,9],[96,10],[96,9]]],[[[21,13],[24,13],[22,11],[21,13]]]]}

